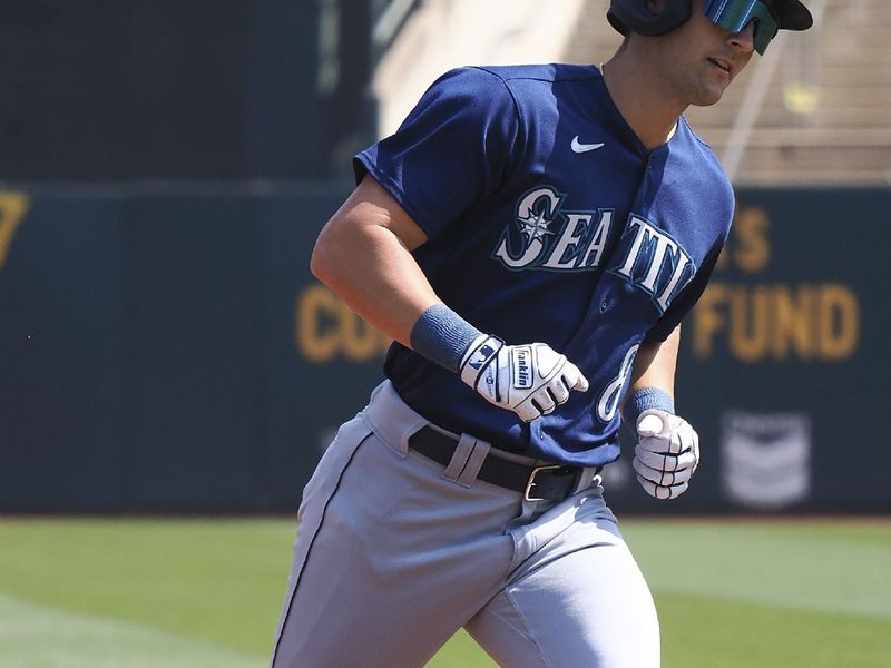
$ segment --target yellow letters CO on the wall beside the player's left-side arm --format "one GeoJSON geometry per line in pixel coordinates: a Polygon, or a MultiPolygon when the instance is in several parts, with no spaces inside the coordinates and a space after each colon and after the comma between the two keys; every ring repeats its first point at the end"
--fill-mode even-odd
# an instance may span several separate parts
{"type": "Polygon", "coordinates": [[[311,285],[297,295],[295,320],[297,350],[320,364],[339,355],[369,362],[391,343],[323,285],[311,285]]]}

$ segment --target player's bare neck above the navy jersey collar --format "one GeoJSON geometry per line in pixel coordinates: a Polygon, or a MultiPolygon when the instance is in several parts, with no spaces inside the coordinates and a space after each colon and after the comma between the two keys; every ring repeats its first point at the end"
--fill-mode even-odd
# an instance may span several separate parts
{"type": "Polygon", "coordinates": [[[672,138],[688,105],[666,95],[654,72],[640,63],[619,51],[600,69],[616,108],[642,144],[653,150],[672,138]]]}

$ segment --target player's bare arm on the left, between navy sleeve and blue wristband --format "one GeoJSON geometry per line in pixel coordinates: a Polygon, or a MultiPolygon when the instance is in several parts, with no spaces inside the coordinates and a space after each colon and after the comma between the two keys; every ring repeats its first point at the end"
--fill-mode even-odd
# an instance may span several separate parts
{"type": "Polygon", "coordinates": [[[408,346],[418,317],[440,301],[411,255],[425,240],[366,176],[320,233],[310,268],[362,318],[408,346]]]}

